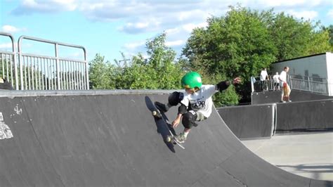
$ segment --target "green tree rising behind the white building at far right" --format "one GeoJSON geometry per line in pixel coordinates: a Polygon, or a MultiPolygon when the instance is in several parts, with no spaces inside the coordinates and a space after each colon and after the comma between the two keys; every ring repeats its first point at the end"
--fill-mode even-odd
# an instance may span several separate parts
{"type": "Polygon", "coordinates": [[[271,37],[278,49],[277,60],[287,60],[316,53],[325,53],[331,49],[329,32],[319,29],[319,22],[297,20],[292,15],[279,13],[273,23],[268,25],[271,37]]]}

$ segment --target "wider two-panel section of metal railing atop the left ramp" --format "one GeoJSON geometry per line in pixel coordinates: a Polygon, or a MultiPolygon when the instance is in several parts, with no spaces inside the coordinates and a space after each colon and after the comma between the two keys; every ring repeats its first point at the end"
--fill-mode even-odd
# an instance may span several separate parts
{"type": "Polygon", "coordinates": [[[86,49],[46,39],[22,36],[18,39],[21,90],[81,90],[89,89],[86,49]],[[22,53],[22,40],[40,41],[55,46],[55,56],[22,53]],[[84,51],[84,60],[60,58],[58,46],[69,46],[84,51]]]}

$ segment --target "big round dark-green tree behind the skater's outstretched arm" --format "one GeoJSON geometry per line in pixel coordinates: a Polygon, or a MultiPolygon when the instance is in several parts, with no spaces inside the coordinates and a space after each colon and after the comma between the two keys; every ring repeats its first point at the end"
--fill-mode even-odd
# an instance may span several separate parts
{"type": "MultiPolygon", "coordinates": [[[[201,72],[211,80],[209,84],[236,76],[242,77],[246,83],[251,76],[258,75],[261,68],[268,67],[275,60],[277,49],[263,22],[271,20],[269,15],[267,11],[259,13],[247,8],[230,7],[226,16],[209,18],[207,28],[193,30],[183,49],[183,56],[188,58],[192,70],[201,72]]],[[[231,93],[235,94],[235,91],[231,93]]],[[[229,98],[239,98],[230,94],[229,98]]],[[[227,94],[224,95],[227,97],[227,94]]],[[[230,103],[223,96],[216,98],[221,102],[216,100],[215,103],[230,103]]]]}

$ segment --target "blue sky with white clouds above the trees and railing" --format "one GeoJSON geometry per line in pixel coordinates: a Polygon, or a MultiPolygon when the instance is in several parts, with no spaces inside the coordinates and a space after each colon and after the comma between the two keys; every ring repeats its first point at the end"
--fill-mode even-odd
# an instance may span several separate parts
{"type": "MultiPolygon", "coordinates": [[[[223,16],[228,6],[285,12],[294,18],[333,25],[332,0],[0,0],[0,32],[84,46],[87,60],[96,53],[105,60],[146,54],[145,42],[166,33],[166,46],[179,56],[195,27],[223,16]]],[[[17,49],[16,49],[17,50],[17,49]]],[[[11,51],[9,37],[0,36],[0,51],[11,51]]],[[[22,53],[54,56],[54,46],[22,39],[22,53]]],[[[60,47],[59,56],[84,58],[83,50],[60,47]]]]}

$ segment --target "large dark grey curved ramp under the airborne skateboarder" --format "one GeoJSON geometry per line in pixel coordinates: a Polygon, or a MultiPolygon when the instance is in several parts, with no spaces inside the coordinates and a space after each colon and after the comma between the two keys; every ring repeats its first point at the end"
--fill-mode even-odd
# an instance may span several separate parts
{"type": "Polygon", "coordinates": [[[332,186],[261,160],[216,110],[182,150],[150,113],[167,94],[85,94],[0,98],[13,133],[0,140],[1,186],[332,186]]]}

